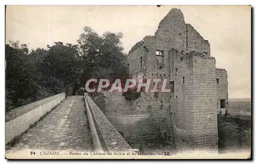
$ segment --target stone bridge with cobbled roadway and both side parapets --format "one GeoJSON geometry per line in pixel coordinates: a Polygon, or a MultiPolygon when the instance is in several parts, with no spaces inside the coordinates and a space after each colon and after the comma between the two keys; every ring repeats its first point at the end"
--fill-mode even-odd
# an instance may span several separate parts
{"type": "Polygon", "coordinates": [[[60,93],[6,113],[6,151],[128,151],[115,127],[87,95],[60,93]]]}

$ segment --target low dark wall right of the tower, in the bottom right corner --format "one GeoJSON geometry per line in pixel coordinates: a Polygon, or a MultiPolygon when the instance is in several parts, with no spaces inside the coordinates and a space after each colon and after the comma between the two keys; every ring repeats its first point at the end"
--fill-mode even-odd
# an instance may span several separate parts
{"type": "Polygon", "coordinates": [[[250,152],[251,116],[218,114],[219,153],[250,152]]]}

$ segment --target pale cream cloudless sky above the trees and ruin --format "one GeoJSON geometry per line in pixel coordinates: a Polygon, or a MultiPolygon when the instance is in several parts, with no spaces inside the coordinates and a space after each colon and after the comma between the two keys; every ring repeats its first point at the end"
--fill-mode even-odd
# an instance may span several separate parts
{"type": "Polygon", "coordinates": [[[76,44],[84,26],[98,34],[122,32],[124,52],[146,35],[155,35],[172,8],[210,43],[216,67],[228,74],[228,97],[251,95],[250,6],[7,6],[6,42],[18,40],[29,49],[54,42],[76,44]]]}

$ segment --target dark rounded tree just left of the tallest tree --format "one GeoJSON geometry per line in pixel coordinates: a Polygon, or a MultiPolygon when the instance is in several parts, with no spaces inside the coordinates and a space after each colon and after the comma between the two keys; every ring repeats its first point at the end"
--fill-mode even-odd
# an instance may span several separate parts
{"type": "Polygon", "coordinates": [[[48,55],[41,64],[40,85],[50,88],[54,95],[60,92],[72,95],[81,74],[77,45],[54,42],[48,48],[48,55]]]}

